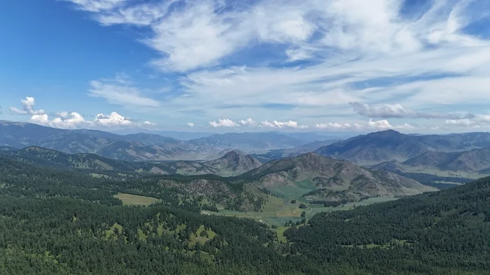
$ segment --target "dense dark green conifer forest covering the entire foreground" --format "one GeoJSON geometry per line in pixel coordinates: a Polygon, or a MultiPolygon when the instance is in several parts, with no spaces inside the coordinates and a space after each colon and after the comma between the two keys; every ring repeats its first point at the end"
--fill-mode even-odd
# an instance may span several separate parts
{"type": "Polygon", "coordinates": [[[185,185],[198,178],[97,178],[0,158],[0,274],[490,270],[489,178],[351,211],[316,214],[306,225],[290,226],[286,242],[264,223],[202,215],[201,209],[215,207],[207,198],[161,184],[172,179],[185,185]],[[123,206],[113,197],[117,193],[151,195],[161,202],[123,206]]]}

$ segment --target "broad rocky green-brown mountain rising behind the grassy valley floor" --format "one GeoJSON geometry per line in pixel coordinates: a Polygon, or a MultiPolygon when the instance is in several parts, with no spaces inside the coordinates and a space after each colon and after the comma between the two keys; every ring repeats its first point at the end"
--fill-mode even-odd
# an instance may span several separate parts
{"type": "Polygon", "coordinates": [[[356,201],[366,197],[414,195],[437,189],[386,171],[368,171],[348,161],[314,153],[271,161],[240,177],[283,198],[356,201]]]}

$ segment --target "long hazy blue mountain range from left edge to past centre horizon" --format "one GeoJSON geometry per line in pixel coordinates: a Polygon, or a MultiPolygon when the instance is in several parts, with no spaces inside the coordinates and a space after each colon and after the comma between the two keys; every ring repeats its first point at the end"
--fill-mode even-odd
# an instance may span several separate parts
{"type": "Polygon", "coordinates": [[[307,143],[279,133],[227,133],[195,140],[161,135],[117,135],[95,130],[64,130],[23,122],[0,121],[0,146],[22,149],[38,146],[66,154],[98,154],[123,161],[196,161],[220,158],[223,150],[266,152],[307,143]]]}

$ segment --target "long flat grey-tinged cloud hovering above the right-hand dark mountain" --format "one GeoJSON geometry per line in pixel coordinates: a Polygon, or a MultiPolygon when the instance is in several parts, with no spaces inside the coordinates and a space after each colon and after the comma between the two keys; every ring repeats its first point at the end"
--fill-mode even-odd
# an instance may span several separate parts
{"type": "Polygon", "coordinates": [[[473,114],[437,114],[427,112],[416,112],[401,104],[366,104],[351,102],[349,103],[354,112],[364,117],[381,118],[412,118],[412,119],[471,119],[473,114]]]}

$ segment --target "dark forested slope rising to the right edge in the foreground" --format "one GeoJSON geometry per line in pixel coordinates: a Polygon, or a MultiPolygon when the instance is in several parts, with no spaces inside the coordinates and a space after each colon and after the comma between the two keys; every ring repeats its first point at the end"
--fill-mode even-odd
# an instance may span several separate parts
{"type": "Polygon", "coordinates": [[[359,274],[486,274],[489,198],[487,177],[352,211],[324,212],[284,235],[297,255],[352,265],[363,269],[359,274]]]}

